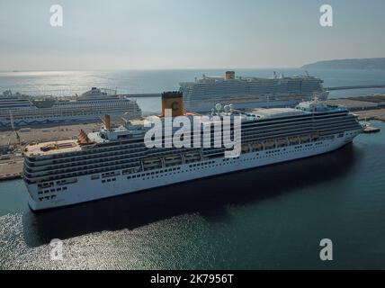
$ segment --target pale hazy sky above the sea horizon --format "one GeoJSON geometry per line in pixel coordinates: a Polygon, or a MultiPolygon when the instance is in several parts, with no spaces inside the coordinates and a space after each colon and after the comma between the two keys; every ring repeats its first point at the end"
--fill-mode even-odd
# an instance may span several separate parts
{"type": "Polygon", "coordinates": [[[385,57],[383,0],[1,0],[0,70],[300,67],[385,57]],[[63,27],[49,23],[53,4],[63,27]],[[322,4],[333,27],[319,24],[322,4]]]}

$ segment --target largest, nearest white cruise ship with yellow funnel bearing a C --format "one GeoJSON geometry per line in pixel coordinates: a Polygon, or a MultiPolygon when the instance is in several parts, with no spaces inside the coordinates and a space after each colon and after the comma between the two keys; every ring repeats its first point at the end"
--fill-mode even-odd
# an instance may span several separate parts
{"type": "MultiPolygon", "coordinates": [[[[172,107],[173,117],[192,116],[184,112],[182,94],[165,93],[162,97],[163,112],[172,107]]],[[[81,131],[77,139],[27,146],[23,150],[23,179],[31,209],[89,202],[311,157],[351,143],[362,131],[354,114],[318,100],[300,103],[295,109],[249,112],[231,107],[220,112],[217,105],[215,114],[219,118],[224,114],[240,116],[242,145],[237,157],[225,157],[225,147],[147,148],[144,136],[152,126],[145,121],[151,123],[152,118],[113,127],[107,116],[100,131],[88,135],[81,131]]]]}

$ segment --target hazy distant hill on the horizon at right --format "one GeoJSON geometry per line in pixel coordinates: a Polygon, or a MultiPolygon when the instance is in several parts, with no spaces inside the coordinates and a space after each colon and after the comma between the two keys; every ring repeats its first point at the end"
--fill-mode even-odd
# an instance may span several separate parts
{"type": "Polygon", "coordinates": [[[307,64],[306,69],[385,69],[385,58],[363,58],[318,61],[307,64]]]}

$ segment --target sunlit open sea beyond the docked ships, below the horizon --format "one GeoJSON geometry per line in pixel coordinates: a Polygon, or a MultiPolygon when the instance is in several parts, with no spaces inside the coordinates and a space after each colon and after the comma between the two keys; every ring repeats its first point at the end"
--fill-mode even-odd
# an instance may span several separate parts
{"type": "MultiPolygon", "coordinates": [[[[237,69],[238,76],[273,76],[276,70],[286,76],[303,75],[304,69],[237,69]]],[[[308,70],[325,81],[325,86],[385,84],[385,70],[308,70]]],[[[121,93],[161,93],[178,90],[179,82],[195,77],[224,75],[225,69],[148,70],[148,71],[52,71],[0,72],[0,92],[11,89],[32,95],[81,94],[92,86],[118,89],[121,93]]],[[[330,97],[385,93],[385,88],[336,91],[330,97]]],[[[160,111],[160,99],[139,99],[144,112],[160,111]]]]}

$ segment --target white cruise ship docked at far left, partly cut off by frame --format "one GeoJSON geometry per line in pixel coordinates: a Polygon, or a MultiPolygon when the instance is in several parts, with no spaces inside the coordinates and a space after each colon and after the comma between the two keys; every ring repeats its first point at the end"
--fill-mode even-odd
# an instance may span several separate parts
{"type": "Polygon", "coordinates": [[[72,98],[35,99],[24,95],[0,96],[0,129],[41,124],[98,121],[105,113],[137,119],[141,110],[135,99],[93,87],[72,98]]]}

